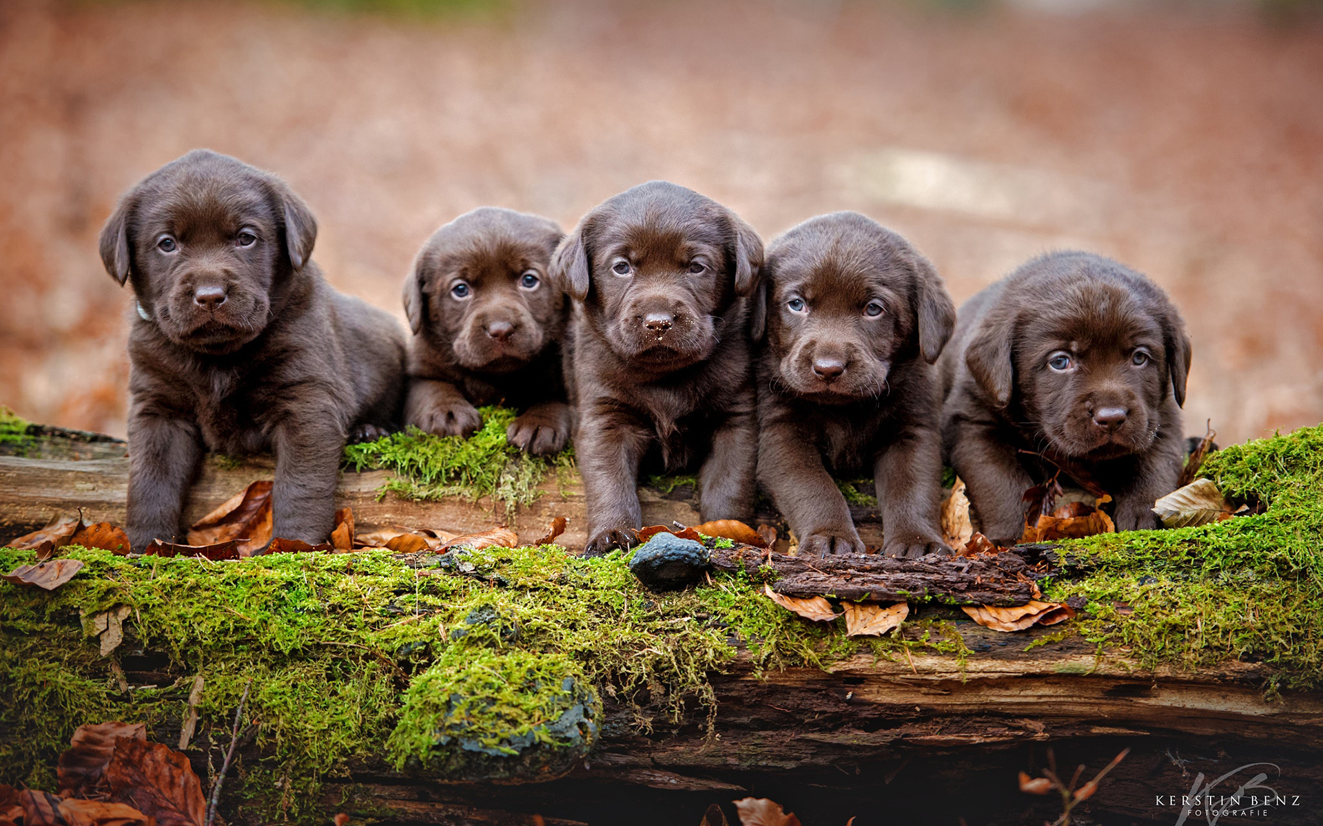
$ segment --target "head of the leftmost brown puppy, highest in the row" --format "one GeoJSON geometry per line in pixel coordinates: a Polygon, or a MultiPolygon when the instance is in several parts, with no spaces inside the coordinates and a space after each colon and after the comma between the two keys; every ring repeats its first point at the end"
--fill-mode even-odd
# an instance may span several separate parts
{"type": "Polygon", "coordinates": [[[101,231],[101,258],[132,280],[139,315],[200,353],[232,353],[312,254],[318,225],[279,178],[196,149],[143,178],[101,231]]]}

